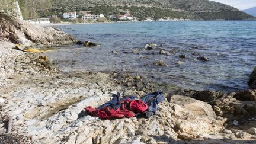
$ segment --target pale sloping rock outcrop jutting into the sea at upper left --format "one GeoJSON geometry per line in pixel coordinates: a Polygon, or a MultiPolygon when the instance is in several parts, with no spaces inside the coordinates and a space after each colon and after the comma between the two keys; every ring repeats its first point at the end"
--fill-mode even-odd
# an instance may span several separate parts
{"type": "Polygon", "coordinates": [[[57,28],[43,28],[0,13],[0,41],[11,41],[25,46],[34,44],[55,46],[75,44],[75,37],[57,28]]]}

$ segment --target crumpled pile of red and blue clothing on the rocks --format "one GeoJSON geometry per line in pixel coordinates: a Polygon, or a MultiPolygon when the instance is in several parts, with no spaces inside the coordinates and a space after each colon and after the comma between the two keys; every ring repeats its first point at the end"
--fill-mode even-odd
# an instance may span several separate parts
{"type": "Polygon", "coordinates": [[[101,119],[114,119],[124,117],[146,117],[149,118],[158,110],[158,104],[165,100],[164,93],[156,91],[145,95],[140,100],[136,100],[136,95],[129,95],[120,98],[120,94],[114,95],[112,100],[100,105],[96,109],[86,107],[92,116],[100,117],[101,119]]]}

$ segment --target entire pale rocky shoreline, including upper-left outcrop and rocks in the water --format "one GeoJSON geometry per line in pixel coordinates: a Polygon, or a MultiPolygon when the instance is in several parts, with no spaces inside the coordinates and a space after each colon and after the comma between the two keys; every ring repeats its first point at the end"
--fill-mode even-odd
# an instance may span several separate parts
{"type": "MultiPolygon", "coordinates": [[[[1,41],[55,45],[66,37],[66,44],[77,42],[54,29],[35,37],[23,22],[7,25],[14,19],[4,18],[1,41]]],[[[44,31],[31,28],[36,30],[44,31]]],[[[174,91],[143,75],[63,74],[44,53],[22,52],[9,42],[0,42],[0,46],[0,143],[255,143],[255,89],[233,93],[174,91]],[[104,104],[117,92],[142,97],[158,89],[164,89],[165,101],[149,119],[101,120],[84,112],[85,107],[104,104]]],[[[153,64],[165,65],[161,61],[153,64]]],[[[255,72],[249,80],[252,88],[255,72]]]]}

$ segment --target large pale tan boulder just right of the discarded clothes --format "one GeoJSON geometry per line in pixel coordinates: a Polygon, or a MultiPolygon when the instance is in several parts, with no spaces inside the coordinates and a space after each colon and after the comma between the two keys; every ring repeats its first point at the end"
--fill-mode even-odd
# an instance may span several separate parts
{"type": "Polygon", "coordinates": [[[204,133],[219,132],[225,119],[216,116],[210,104],[190,97],[173,95],[170,98],[174,117],[177,117],[178,133],[198,136],[204,133]]]}

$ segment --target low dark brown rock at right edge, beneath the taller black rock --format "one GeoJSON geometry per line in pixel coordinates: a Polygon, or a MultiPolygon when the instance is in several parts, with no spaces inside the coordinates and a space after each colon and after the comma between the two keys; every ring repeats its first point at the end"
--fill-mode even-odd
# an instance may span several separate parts
{"type": "Polygon", "coordinates": [[[256,101],[256,90],[240,91],[233,98],[242,101],[256,101]]]}

